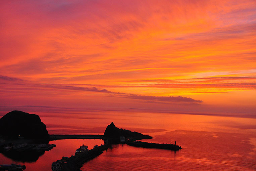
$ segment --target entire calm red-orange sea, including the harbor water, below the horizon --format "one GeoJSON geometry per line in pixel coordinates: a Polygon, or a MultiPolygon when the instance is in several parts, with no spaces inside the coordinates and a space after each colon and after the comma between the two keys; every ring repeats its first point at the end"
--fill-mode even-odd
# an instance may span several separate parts
{"type": "MultiPolygon", "coordinates": [[[[38,113],[37,113],[38,114],[38,113]]],[[[119,128],[153,136],[147,142],[174,143],[179,151],[113,145],[81,170],[256,170],[256,119],[156,113],[40,113],[50,134],[103,134],[112,121],[119,128]],[[53,117],[54,116],[54,117],[53,117]]],[[[51,163],[74,155],[82,144],[102,140],[57,140],[35,162],[19,162],[0,154],[0,164],[20,163],[27,171],[51,170],[51,163]]]]}

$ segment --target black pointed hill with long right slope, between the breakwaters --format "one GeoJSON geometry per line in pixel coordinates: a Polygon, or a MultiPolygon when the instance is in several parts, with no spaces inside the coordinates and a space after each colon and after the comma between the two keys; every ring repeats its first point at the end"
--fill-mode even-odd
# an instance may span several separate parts
{"type": "Polygon", "coordinates": [[[143,135],[138,132],[132,132],[130,130],[124,130],[117,128],[114,123],[112,122],[110,125],[107,126],[104,132],[104,139],[120,139],[120,136],[124,136],[126,139],[133,139],[133,140],[141,140],[141,139],[151,139],[153,137],[149,135],[143,135]]]}

